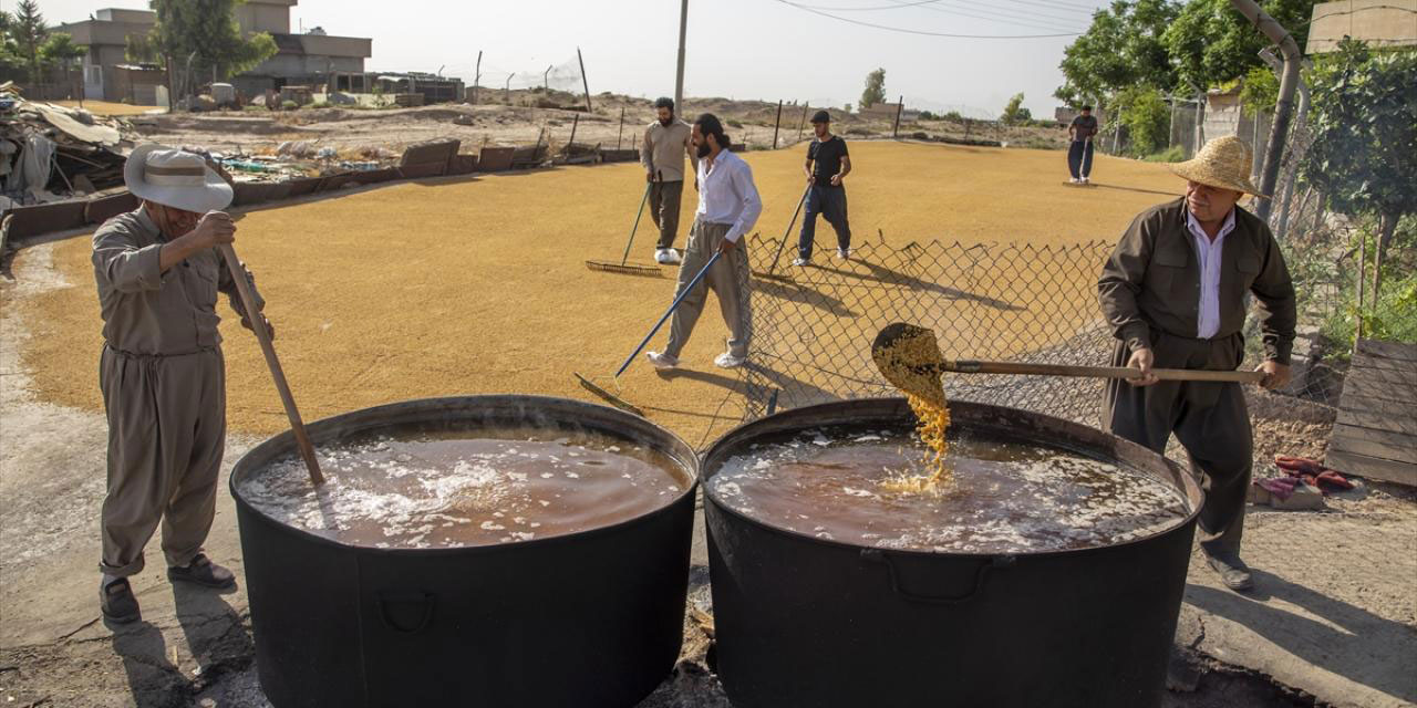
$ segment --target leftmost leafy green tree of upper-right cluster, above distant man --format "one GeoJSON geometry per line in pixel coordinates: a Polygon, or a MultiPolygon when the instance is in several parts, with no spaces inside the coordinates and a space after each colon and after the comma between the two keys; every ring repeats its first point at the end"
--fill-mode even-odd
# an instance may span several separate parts
{"type": "Polygon", "coordinates": [[[1179,13],[1173,0],[1115,0],[1093,13],[1087,33],[1063,50],[1064,84],[1053,95],[1077,108],[1107,105],[1138,84],[1170,91],[1176,72],[1161,37],[1179,13]]]}

